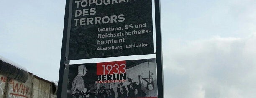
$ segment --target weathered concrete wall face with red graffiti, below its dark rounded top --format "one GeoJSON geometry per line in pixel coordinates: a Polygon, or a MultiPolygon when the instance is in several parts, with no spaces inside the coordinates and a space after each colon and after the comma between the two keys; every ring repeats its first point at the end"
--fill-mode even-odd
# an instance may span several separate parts
{"type": "Polygon", "coordinates": [[[56,98],[56,88],[53,83],[32,74],[25,83],[0,75],[0,98],[56,98]]]}

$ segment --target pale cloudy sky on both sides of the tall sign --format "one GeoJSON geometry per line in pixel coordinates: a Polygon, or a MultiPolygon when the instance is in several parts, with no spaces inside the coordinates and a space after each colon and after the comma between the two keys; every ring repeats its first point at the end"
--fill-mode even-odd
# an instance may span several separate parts
{"type": "MultiPolygon", "coordinates": [[[[65,0],[0,9],[0,55],[57,81],[65,0]]],[[[255,0],[161,0],[161,21],[166,98],[255,98],[255,0]]]]}

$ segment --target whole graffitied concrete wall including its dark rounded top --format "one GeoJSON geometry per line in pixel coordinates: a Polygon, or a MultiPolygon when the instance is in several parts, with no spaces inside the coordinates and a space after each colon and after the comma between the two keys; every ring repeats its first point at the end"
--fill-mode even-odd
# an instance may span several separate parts
{"type": "Polygon", "coordinates": [[[56,98],[56,86],[0,56],[0,98],[56,98]]]}

